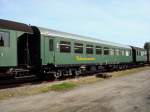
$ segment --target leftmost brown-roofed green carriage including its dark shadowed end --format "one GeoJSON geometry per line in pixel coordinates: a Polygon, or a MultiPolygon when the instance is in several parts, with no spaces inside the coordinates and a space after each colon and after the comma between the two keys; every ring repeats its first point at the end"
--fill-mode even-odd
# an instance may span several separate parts
{"type": "Polygon", "coordinates": [[[37,38],[34,27],[0,19],[0,77],[28,73],[28,66],[40,64],[37,38]]]}

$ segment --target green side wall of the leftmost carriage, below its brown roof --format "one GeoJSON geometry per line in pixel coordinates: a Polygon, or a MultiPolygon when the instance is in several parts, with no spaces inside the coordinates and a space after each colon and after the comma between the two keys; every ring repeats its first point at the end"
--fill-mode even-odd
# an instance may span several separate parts
{"type": "Polygon", "coordinates": [[[0,67],[17,66],[17,35],[15,31],[0,28],[0,67]]]}

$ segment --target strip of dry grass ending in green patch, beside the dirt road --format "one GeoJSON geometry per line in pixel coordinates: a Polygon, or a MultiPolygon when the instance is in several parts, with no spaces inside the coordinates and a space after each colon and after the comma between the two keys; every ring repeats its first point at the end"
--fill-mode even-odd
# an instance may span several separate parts
{"type": "Polygon", "coordinates": [[[25,86],[18,88],[8,88],[0,90],[0,100],[9,99],[13,97],[32,96],[41,93],[47,93],[49,91],[65,91],[78,87],[78,84],[73,82],[61,82],[59,84],[41,84],[40,86],[25,86]]]}

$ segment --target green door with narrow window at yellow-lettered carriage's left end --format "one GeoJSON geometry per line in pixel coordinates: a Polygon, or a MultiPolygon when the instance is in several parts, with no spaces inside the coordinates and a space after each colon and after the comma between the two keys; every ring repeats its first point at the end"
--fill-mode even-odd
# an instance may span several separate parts
{"type": "Polygon", "coordinates": [[[45,63],[54,64],[55,52],[54,52],[54,38],[45,36],[45,63]]]}

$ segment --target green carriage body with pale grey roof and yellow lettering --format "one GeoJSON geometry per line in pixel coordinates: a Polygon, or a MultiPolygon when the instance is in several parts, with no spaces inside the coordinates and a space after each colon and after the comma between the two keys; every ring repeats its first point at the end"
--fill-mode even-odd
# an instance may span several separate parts
{"type": "Polygon", "coordinates": [[[55,66],[128,64],[130,46],[39,28],[42,64],[55,66]]]}

